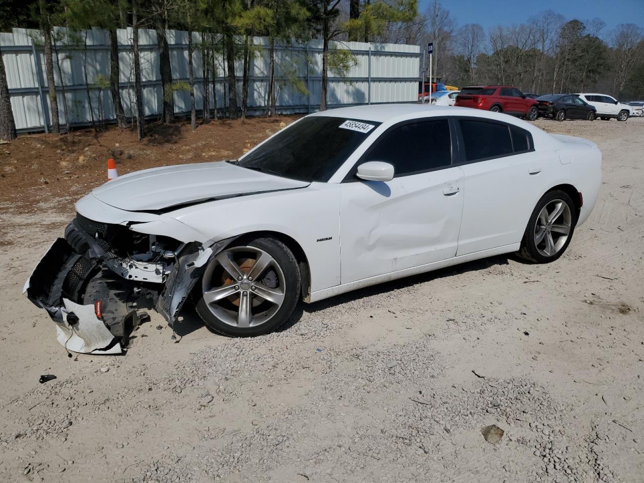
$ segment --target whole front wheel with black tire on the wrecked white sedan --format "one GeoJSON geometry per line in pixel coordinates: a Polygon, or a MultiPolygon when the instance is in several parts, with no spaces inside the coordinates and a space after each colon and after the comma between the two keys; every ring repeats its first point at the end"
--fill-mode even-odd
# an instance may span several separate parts
{"type": "Polygon", "coordinates": [[[289,248],[275,238],[254,237],[211,258],[193,300],[197,314],[214,331],[231,337],[261,336],[287,323],[300,285],[298,262],[289,248]],[[263,262],[255,273],[259,260],[263,262]]]}

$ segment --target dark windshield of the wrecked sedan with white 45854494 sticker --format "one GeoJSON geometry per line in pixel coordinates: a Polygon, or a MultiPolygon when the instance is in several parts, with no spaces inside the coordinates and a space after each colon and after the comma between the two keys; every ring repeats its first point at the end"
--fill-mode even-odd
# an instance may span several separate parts
{"type": "Polygon", "coordinates": [[[380,122],[305,117],[235,164],[301,181],[327,182],[380,122]]]}

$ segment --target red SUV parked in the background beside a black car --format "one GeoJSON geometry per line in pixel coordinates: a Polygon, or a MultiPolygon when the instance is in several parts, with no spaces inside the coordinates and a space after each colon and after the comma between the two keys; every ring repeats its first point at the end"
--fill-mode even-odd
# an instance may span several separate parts
{"type": "Polygon", "coordinates": [[[512,86],[469,86],[462,88],[455,106],[504,112],[513,116],[535,120],[539,111],[535,99],[512,86]]]}

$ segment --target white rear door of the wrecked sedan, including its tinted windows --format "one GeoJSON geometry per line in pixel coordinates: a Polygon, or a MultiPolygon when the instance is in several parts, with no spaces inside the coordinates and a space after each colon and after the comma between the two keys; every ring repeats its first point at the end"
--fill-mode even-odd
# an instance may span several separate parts
{"type": "Polygon", "coordinates": [[[535,199],[545,158],[526,129],[481,118],[460,118],[465,200],[457,256],[518,243],[535,199]]]}

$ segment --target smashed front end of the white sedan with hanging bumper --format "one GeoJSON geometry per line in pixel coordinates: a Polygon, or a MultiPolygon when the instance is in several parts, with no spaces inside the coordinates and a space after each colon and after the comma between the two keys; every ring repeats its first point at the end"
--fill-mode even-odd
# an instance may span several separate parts
{"type": "Polygon", "coordinates": [[[174,323],[213,253],[131,226],[77,214],[28,279],[24,291],[52,317],[67,350],[120,354],[146,310],[174,323]]]}

